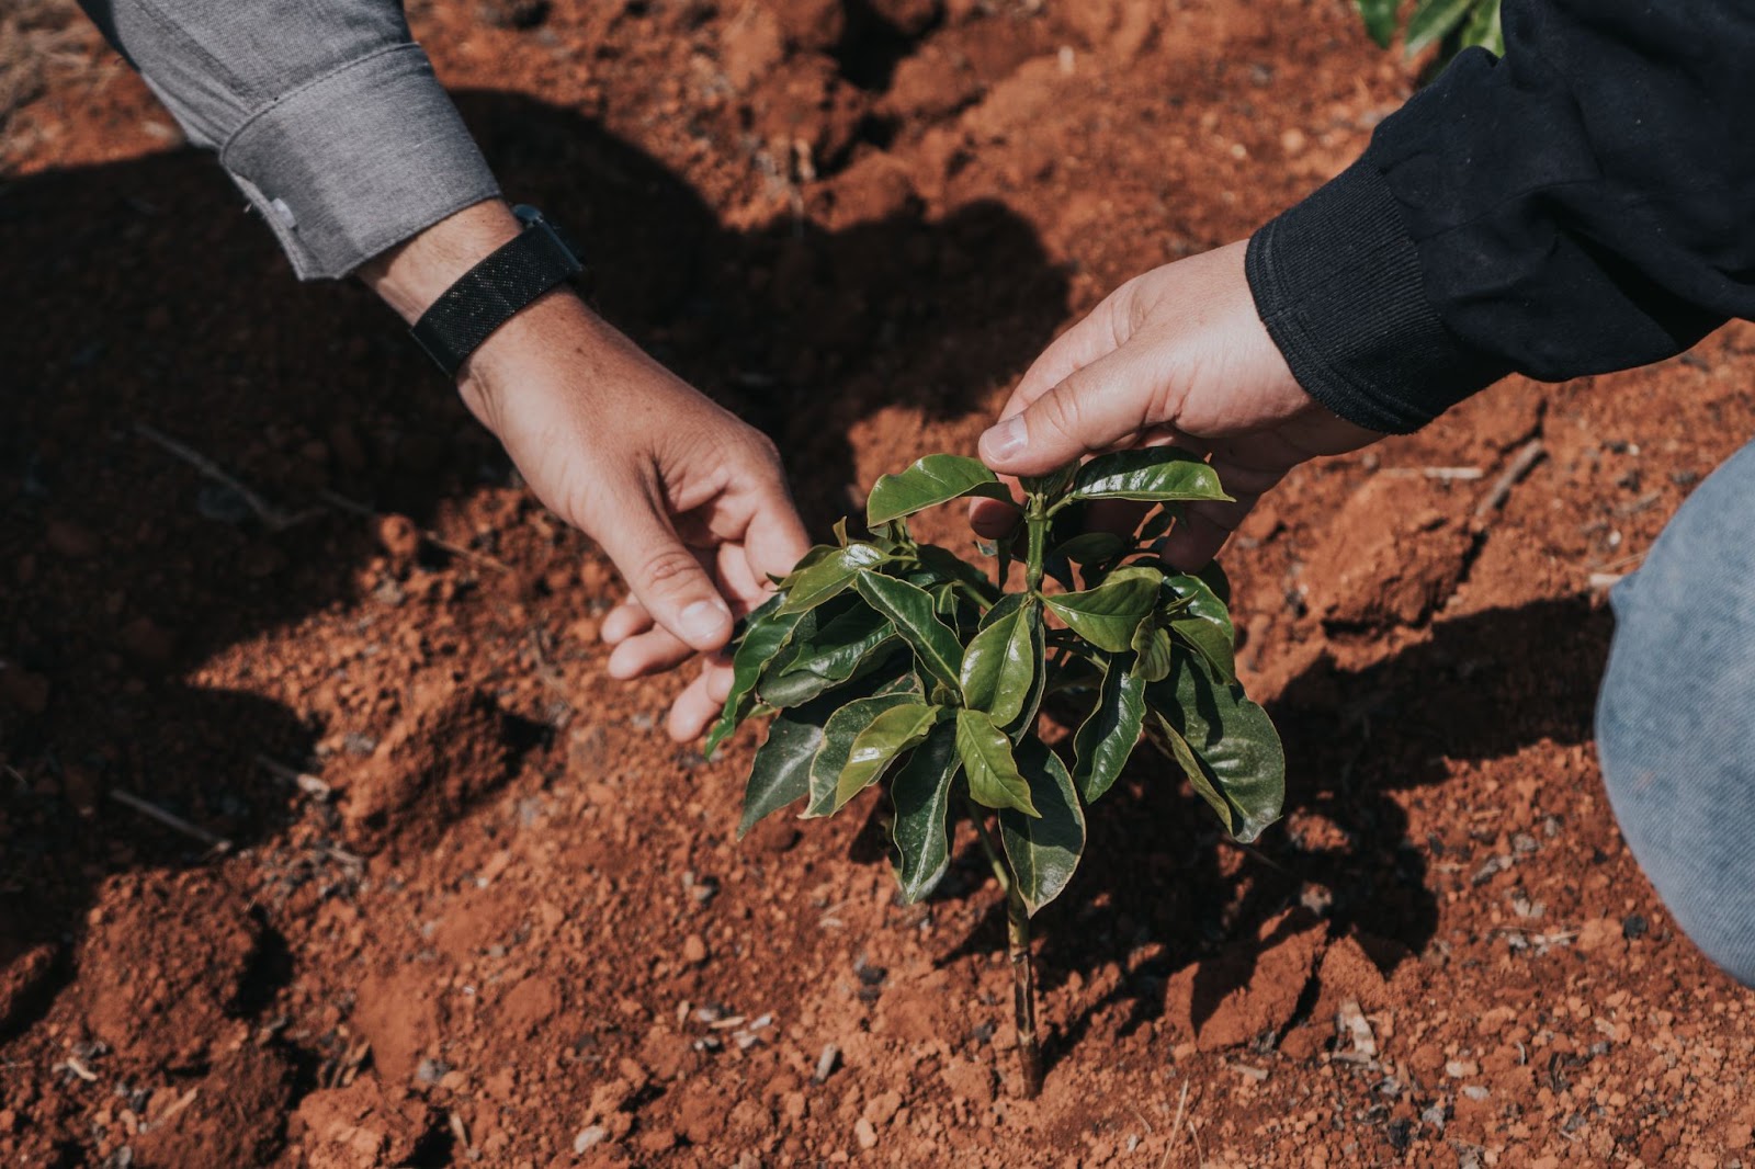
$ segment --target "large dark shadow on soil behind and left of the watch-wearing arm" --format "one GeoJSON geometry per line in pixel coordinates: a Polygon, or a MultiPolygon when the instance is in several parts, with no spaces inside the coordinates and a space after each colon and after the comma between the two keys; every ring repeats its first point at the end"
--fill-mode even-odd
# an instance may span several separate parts
{"type": "MultiPolygon", "coordinates": [[[[851,425],[978,409],[1065,316],[1064,276],[1000,205],[735,232],[572,112],[460,105],[504,190],[590,255],[604,314],[769,430],[818,528],[844,509],[851,425]]],[[[297,284],[240,205],[195,151],[0,186],[0,276],[28,290],[0,333],[0,1039],[65,983],[97,885],[202,860],[112,790],[237,846],[286,814],[254,758],[304,760],[323,728],[183,678],[353,597],[377,555],[339,513],[270,530],[135,427],[291,513],[333,490],[425,523],[511,476],[393,316],[351,283],[297,284]]],[[[335,671],[298,665],[265,656],[265,688],[335,671]]]]}

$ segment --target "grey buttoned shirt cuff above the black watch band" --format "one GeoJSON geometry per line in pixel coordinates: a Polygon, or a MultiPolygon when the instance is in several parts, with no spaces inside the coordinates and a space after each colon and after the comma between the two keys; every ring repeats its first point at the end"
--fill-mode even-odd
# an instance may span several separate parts
{"type": "Polygon", "coordinates": [[[498,184],[426,53],[398,44],[256,112],[219,161],[300,279],[339,277],[498,184]]]}

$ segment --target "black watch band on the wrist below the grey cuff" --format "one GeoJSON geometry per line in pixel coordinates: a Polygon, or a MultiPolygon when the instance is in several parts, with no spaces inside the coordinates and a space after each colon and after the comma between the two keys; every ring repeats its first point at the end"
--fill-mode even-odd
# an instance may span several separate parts
{"type": "Polygon", "coordinates": [[[525,230],[458,277],[409,330],[446,377],[456,377],[469,355],[532,300],[584,274],[584,262],[541,211],[519,204],[512,214],[525,230]]]}

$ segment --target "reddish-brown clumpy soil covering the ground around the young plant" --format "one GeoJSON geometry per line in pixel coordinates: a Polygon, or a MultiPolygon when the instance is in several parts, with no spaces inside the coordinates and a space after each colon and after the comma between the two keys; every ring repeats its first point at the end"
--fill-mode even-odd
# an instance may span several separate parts
{"type": "MultiPolygon", "coordinates": [[[[532,14],[416,23],[505,188],[777,437],[818,527],[971,449],[1057,328],[1248,233],[1411,88],[1341,0],[532,14]]],[[[1135,762],[1042,918],[1023,1102],[972,841],[914,907],[870,797],[734,843],[753,735],[662,739],[677,681],[602,671],[600,553],[81,44],[0,188],[0,1164],[1748,1162],[1750,997],[1590,746],[1594,574],[1755,430],[1748,328],[1513,381],[1264,506],[1227,563],[1285,825],[1228,846],[1135,762]],[[325,490],[391,518],[304,514],[325,490]]]]}

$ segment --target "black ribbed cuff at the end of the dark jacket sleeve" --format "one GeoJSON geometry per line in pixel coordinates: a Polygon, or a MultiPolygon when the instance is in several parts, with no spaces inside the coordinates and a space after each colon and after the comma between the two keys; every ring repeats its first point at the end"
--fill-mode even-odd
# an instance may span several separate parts
{"type": "Polygon", "coordinates": [[[1409,434],[1511,372],[1444,328],[1369,154],[1258,230],[1244,270],[1292,376],[1360,427],[1409,434]]]}

